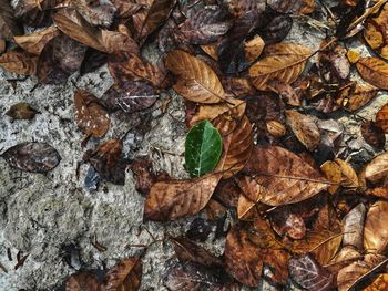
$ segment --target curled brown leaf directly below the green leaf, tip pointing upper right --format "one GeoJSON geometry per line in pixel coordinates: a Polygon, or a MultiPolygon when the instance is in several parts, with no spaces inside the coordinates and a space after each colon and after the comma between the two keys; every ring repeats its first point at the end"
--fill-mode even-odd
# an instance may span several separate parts
{"type": "Polygon", "coordinates": [[[155,183],[146,197],[144,218],[173,220],[201,211],[211,199],[222,174],[208,174],[190,180],[155,183]]]}

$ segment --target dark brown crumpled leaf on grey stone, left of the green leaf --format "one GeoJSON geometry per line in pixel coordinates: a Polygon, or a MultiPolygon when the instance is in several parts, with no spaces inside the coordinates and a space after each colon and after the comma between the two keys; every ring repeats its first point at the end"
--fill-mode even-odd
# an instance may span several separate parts
{"type": "Polygon", "coordinates": [[[126,162],[122,158],[122,141],[110,139],[94,152],[86,153],[84,160],[89,162],[103,179],[124,185],[126,162]]]}

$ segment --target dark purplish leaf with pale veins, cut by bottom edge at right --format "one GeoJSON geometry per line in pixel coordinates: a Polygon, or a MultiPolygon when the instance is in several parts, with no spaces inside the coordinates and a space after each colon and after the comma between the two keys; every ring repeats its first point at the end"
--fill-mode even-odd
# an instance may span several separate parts
{"type": "Polygon", "coordinates": [[[309,291],[329,291],[334,289],[334,276],[325,270],[309,253],[292,258],[288,268],[293,281],[309,291]]]}

